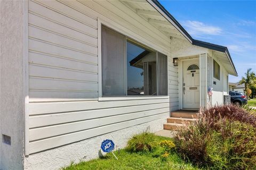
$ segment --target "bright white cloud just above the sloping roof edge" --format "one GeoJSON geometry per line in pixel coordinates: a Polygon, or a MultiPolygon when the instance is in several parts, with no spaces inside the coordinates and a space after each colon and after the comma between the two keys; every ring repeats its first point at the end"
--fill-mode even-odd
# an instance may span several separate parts
{"type": "Polygon", "coordinates": [[[205,35],[220,35],[222,33],[222,29],[219,27],[215,27],[212,25],[206,25],[203,22],[199,21],[184,21],[182,24],[188,30],[190,35],[195,37],[202,37],[205,35]]]}

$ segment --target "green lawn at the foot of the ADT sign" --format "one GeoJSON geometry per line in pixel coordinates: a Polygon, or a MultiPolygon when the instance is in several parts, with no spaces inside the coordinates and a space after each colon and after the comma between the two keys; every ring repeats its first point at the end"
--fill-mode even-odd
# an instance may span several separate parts
{"type": "MultiPolygon", "coordinates": [[[[156,141],[172,140],[171,138],[158,137],[156,141]]],[[[173,153],[165,161],[160,157],[154,157],[153,152],[129,152],[125,149],[114,152],[118,160],[109,153],[103,158],[94,159],[89,162],[71,164],[63,170],[82,169],[199,169],[189,163],[184,162],[177,154],[173,153]]]]}

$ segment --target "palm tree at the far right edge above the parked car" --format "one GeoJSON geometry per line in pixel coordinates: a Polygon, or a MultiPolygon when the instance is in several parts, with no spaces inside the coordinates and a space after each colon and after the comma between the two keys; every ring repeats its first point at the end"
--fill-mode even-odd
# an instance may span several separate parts
{"type": "Polygon", "coordinates": [[[254,87],[256,87],[256,75],[252,71],[252,69],[247,69],[245,73],[245,77],[242,77],[242,80],[239,81],[239,84],[243,84],[245,86],[246,95],[249,96],[251,94],[250,91],[254,87]]]}

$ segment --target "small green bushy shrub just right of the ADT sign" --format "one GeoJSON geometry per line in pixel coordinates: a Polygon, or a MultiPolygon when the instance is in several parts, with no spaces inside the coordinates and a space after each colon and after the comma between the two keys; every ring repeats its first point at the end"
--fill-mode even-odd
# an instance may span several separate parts
{"type": "Polygon", "coordinates": [[[149,152],[156,148],[156,136],[154,133],[143,132],[134,135],[127,143],[126,149],[129,151],[149,152]]]}

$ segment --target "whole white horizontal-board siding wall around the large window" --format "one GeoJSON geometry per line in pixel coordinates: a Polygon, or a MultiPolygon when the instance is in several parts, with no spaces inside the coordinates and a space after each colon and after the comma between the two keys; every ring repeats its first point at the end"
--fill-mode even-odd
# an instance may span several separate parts
{"type": "Polygon", "coordinates": [[[98,18],[171,53],[170,38],[121,2],[29,1],[30,154],[168,117],[170,107],[178,109],[178,70],[170,56],[170,101],[98,101],[98,18]]]}

